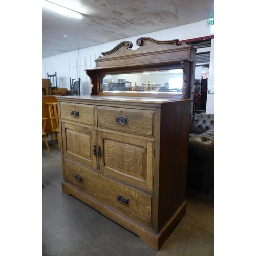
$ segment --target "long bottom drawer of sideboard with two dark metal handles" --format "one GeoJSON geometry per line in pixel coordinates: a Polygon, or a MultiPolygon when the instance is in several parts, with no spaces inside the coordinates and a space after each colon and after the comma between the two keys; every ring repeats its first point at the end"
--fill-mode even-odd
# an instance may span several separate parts
{"type": "Polygon", "coordinates": [[[64,160],[64,180],[82,188],[89,195],[125,216],[151,226],[152,196],[64,160]]]}

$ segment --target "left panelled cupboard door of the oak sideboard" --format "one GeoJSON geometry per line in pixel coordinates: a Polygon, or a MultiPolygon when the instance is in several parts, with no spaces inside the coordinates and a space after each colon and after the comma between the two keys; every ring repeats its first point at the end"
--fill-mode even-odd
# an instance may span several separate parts
{"type": "Polygon", "coordinates": [[[94,145],[97,145],[96,130],[63,122],[61,129],[63,155],[97,168],[97,156],[93,154],[94,145]]]}

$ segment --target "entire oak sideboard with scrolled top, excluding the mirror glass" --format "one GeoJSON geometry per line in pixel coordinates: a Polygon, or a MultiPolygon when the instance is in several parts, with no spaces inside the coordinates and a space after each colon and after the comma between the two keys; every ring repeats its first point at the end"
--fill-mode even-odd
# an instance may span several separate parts
{"type": "MultiPolygon", "coordinates": [[[[90,96],[58,99],[62,191],[159,250],[186,212],[195,49],[179,40],[121,42],[86,73],[90,96]],[[105,77],[182,69],[180,92],[104,91],[105,77]]],[[[117,80],[118,81],[118,80],[117,80]]],[[[133,81],[135,82],[135,81],[133,81]]],[[[144,83],[148,80],[142,81],[144,83]]],[[[124,245],[125,245],[125,241],[124,245]]]]}

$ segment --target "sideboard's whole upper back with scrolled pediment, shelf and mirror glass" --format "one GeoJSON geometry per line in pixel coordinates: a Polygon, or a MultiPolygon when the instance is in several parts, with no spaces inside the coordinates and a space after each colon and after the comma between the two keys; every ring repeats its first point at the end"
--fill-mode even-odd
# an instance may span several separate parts
{"type": "Polygon", "coordinates": [[[178,42],[142,37],[136,50],[130,49],[132,42],[123,41],[102,52],[96,68],[86,70],[91,95],[190,98],[195,49],[178,42]]]}

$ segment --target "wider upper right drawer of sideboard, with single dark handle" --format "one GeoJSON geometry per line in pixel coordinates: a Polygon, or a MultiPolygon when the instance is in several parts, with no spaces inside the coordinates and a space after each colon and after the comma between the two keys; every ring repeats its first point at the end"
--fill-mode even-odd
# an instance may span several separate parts
{"type": "Polygon", "coordinates": [[[98,106],[98,127],[153,136],[152,110],[98,106]]]}

